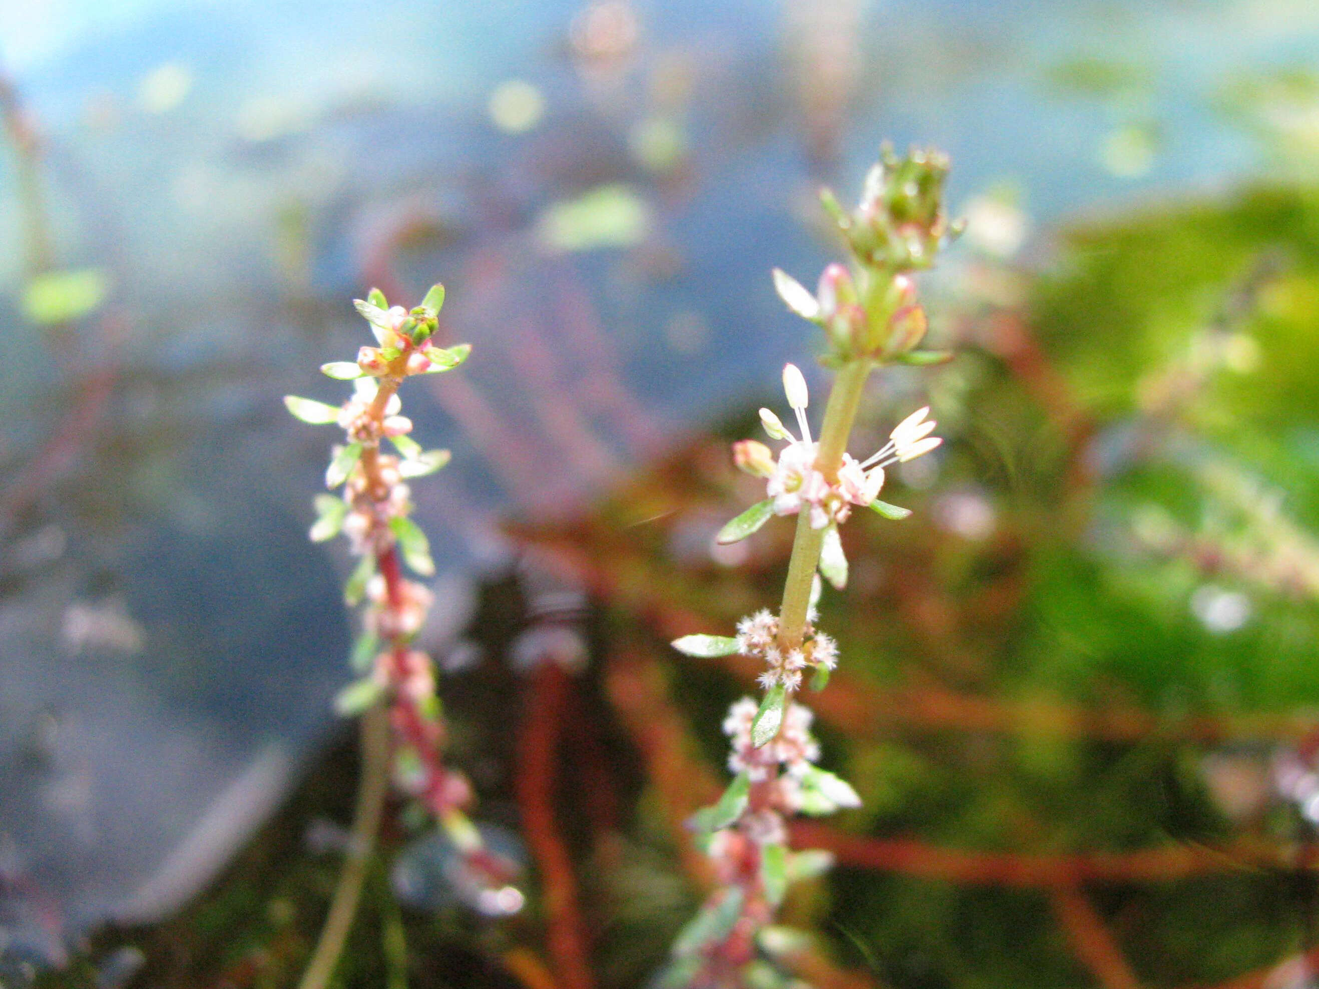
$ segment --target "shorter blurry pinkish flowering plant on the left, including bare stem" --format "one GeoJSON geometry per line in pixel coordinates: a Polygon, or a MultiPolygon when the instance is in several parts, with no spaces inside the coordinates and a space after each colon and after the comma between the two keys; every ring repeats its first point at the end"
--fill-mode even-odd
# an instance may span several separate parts
{"type": "Polygon", "coordinates": [[[342,405],[297,396],[284,400],[302,422],[344,430],[344,442],[334,447],[326,469],[326,487],[342,493],[317,496],[310,537],[323,542],[343,534],[360,558],[344,585],[344,601],[361,609],[361,634],[352,650],[359,678],[344,687],[335,707],[342,715],[363,716],[364,767],[348,858],[303,989],[326,985],[343,949],[390,774],[396,787],[421,804],[458,849],[462,869],[456,878],[472,887],[471,898],[485,913],[509,913],[522,902],[508,885],[512,868],[487,851],[464,812],[472,800],[471,785],[442,761],[445,721],[434,665],[413,647],[431,592],[404,575],[405,566],[418,576],[435,572],[426,534],[410,517],[406,481],[435,473],[448,463],[450,452],[422,450],[408,435],[413,423],[401,414],[398,386],[408,377],[452,371],[467,360],[471,347],[437,347],[431,340],[445,305],[443,285],[433,286],[412,310],[389,306],[379,289],[353,305],[371,324],[377,345],[361,347],[355,361],[321,368],[328,377],[352,381],[352,396],[342,405]],[[385,439],[393,454],[381,450],[385,439]]]}

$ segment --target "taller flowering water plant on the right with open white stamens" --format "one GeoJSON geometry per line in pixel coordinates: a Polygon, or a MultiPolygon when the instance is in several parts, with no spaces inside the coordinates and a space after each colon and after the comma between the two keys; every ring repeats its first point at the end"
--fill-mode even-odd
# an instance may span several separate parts
{"type": "Polygon", "coordinates": [[[930,435],[935,423],[925,407],[898,423],[889,443],[864,460],[847,452],[872,371],[885,364],[936,364],[951,356],[918,349],[926,315],[913,280],[913,273],[934,264],[939,248],[958,232],[943,206],[947,170],[947,158],[939,152],[913,150],[897,157],[885,148],[867,175],[856,210],[845,212],[831,193],[822,194],[851,264],[828,265],[815,294],[774,270],[774,285],[787,307],[824,330],[822,363],[836,371],[836,377],[818,439],[806,415],[810,396],[805,376],[789,364],[783,389],[801,435],[761,409],[765,433],[786,442],[778,456],[757,440],[733,444],[737,467],[765,480],[766,497],[728,522],[718,541],[737,542],[774,516],[797,516],[778,614],[762,609],[743,618],[735,636],[683,636],[673,644],[694,657],[762,659],[760,686],[765,692],[758,702],[735,702],[724,721],[732,742],[728,769],[735,775],[719,800],[691,820],[719,885],[679,932],[661,980],[666,986],[787,985],[790,977],[770,959],[776,944],[791,940],[791,935],[774,927],[773,919],[787,885],[827,868],[828,857],[789,851],[786,820],[860,804],[851,785],[815,765],[820,749],[810,732],[813,715],[793,695],[806,671],[811,673],[811,688],[823,690],[838,663],[835,641],[815,625],[815,601],[819,576],[838,589],[847,585],[839,526],[855,506],[892,520],[909,516],[906,509],[880,501],[885,468],[927,454],[942,442],[930,435]]]}

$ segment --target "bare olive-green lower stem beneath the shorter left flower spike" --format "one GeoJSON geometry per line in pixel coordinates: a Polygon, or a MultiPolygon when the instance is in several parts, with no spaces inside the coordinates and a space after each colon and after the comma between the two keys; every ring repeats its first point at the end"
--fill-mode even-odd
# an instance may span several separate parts
{"type": "Polygon", "coordinates": [[[353,812],[348,852],[330,903],[330,915],[298,989],[324,989],[339,964],[357,913],[388,790],[389,712],[383,705],[376,705],[361,717],[361,779],[357,783],[357,808],[353,812]]]}

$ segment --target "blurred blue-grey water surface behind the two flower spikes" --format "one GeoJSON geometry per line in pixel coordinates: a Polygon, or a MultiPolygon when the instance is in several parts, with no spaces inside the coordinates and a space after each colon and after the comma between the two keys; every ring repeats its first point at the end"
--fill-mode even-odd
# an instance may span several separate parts
{"type": "Polygon", "coordinates": [[[813,190],[881,138],[952,154],[979,249],[1042,249],[1275,164],[1232,95],[1316,42],[1302,0],[5,4],[0,947],[169,911],[332,727],[330,435],[280,396],[342,396],[352,295],[441,278],[475,345],[405,398],[455,454],[415,488],[442,651],[500,517],[801,359],[769,269],[819,269],[813,190]]]}

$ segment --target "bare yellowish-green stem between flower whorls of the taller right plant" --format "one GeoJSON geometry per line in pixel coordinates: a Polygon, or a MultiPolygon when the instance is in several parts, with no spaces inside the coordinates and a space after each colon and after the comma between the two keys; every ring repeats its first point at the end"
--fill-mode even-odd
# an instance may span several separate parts
{"type": "MultiPolygon", "coordinates": [[[[843,463],[856,410],[861,404],[861,390],[871,375],[873,363],[868,357],[848,361],[839,371],[824,409],[824,423],[820,426],[819,452],[815,468],[828,480],[838,477],[843,463]]],[[[806,613],[810,609],[811,583],[815,567],[820,559],[820,546],[824,530],[813,529],[810,512],[797,516],[797,535],[793,539],[793,555],[787,563],[787,580],[783,583],[783,605],[778,612],[778,641],[783,650],[802,645],[806,629],[806,613]]]]}

